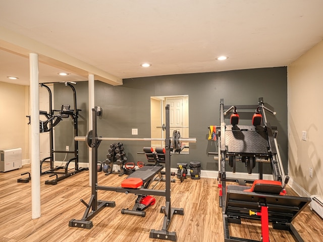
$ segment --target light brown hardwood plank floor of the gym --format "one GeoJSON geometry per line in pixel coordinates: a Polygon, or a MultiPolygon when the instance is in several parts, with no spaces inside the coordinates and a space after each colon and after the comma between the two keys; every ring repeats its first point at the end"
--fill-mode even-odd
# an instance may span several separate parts
{"type": "MultiPolygon", "coordinates": [[[[20,174],[30,166],[0,173],[0,242],[15,241],[167,241],[149,238],[150,229],[160,230],[165,205],[164,197],[155,197],[156,203],[146,210],[146,217],[121,214],[122,208],[132,208],[135,195],[114,191],[98,191],[98,199],[115,201],[116,207],[104,208],[92,219],[92,229],[69,227],[71,219],[81,219],[85,206],[80,199],[89,201],[88,171],[83,171],[57,185],[45,185],[48,175],[41,176],[41,217],[31,219],[31,183],[17,183],[20,174]]],[[[98,184],[120,186],[125,175],[98,174],[98,184]]],[[[160,182],[155,189],[164,189],[160,182]]],[[[295,193],[288,187],[289,195],[295,193]]],[[[186,179],[172,183],[172,207],[184,208],[184,216],[176,215],[170,231],[176,231],[178,242],[224,241],[222,212],[219,207],[217,179],[186,179]]],[[[304,241],[318,242],[323,237],[323,220],[307,207],[293,221],[304,241]]],[[[260,224],[244,221],[231,224],[230,234],[260,240],[260,224]]],[[[287,231],[270,229],[271,242],[294,241],[287,231]]]]}

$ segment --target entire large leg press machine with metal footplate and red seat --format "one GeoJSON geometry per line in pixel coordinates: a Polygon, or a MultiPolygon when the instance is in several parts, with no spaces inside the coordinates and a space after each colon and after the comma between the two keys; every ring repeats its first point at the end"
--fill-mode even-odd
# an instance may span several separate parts
{"type": "MultiPolygon", "coordinates": [[[[260,242],[245,238],[230,236],[229,223],[241,224],[241,219],[261,220],[261,242],[269,242],[269,222],[274,229],[288,230],[296,241],[303,239],[291,224],[292,220],[310,203],[310,198],[285,196],[285,187],[289,177],[285,177],[282,160],[279,153],[277,135],[267,121],[266,111],[276,115],[276,112],[264,106],[263,98],[258,99],[258,105],[225,106],[220,101],[219,137],[219,204],[223,208],[223,223],[225,242],[260,242]],[[227,110],[226,110],[227,109],[227,110]],[[252,125],[238,125],[237,110],[255,110],[252,125]],[[226,111],[225,111],[226,110],[226,111]],[[233,110],[230,117],[231,125],[224,121],[225,116],[233,110]],[[236,160],[246,164],[248,173],[255,167],[256,158],[268,160],[271,164],[274,181],[262,180],[262,162],[259,162],[259,179],[253,185],[229,185],[225,162],[228,158],[230,167],[235,172],[236,160]]],[[[240,184],[240,182],[239,182],[240,184]]]]}

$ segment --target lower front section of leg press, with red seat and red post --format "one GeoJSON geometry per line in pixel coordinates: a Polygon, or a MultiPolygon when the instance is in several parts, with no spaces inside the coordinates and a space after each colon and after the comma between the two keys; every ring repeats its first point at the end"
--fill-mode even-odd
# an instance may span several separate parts
{"type": "Polygon", "coordinates": [[[269,242],[269,222],[274,229],[290,231],[295,241],[303,241],[291,222],[311,199],[286,196],[282,190],[280,181],[270,180],[255,180],[251,187],[228,185],[223,214],[225,242],[259,241],[230,236],[229,223],[241,224],[241,218],[261,220],[261,242],[269,242]]]}

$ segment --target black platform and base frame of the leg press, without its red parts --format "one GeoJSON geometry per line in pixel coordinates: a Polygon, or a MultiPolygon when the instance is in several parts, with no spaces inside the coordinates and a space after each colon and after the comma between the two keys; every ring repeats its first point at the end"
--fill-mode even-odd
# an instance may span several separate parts
{"type": "MultiPolygon", "coordinates": [[[[306,197],[294,197],[287,195],[274,195],[269,193],[249,192],[231,189],[228,186],[225,213],[223,214],[224,241],[225,242],[261,242],[230,235],[229,224],[241,224],[241,219],[260,220],[257,216],[249,214],[249,210],[261,211],[260,207],[268,209],[268,222],[272,222],[274,229],[287,230],[295,241],[304,242],[297,232],[292,220],[310,203],[306,197]]],[[[249,188],[249,187],[245,187],[249,188]]]]}

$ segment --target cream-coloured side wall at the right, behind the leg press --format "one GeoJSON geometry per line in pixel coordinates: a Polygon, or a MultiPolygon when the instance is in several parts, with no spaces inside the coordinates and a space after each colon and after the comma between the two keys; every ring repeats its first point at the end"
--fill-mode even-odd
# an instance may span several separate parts
{"type": "Polygon", "coordinates": [[[323,41],[288,66],[289,175],[301,195],[323,198],[323,41]],[[307,140],[302,140],[302,131],[307,140]],[[313,169],[312,178],[309,168],[313,169]]]}

